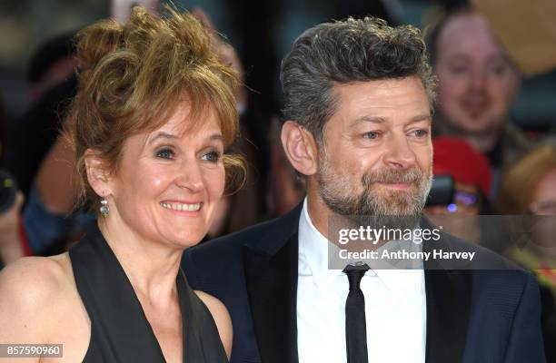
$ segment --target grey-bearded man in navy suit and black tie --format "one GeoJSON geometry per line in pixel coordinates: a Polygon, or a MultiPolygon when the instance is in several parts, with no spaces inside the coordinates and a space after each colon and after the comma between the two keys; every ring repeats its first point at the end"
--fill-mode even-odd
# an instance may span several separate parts
{"type": "Polygon", "coordinates": [[[417,29],[373,18],[316,25],[283,59],[282,143],[306,199],[183,260],[194,289],[231,313],[233,363],[544,361],[538,289],[521,270],[328,269],[330,218],[421,215],[432,175],[425,59],[417,29]]]}

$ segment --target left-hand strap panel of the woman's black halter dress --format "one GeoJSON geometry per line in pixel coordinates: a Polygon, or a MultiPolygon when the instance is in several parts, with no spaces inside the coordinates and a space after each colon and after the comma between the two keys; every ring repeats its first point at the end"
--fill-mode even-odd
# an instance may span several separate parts
{"type": "Polygon", "coordinates": [[[69,250],[75,284],[91,319],[85,356],[106,362],[164,362],[131,282],[95,225],[69,250]]]}

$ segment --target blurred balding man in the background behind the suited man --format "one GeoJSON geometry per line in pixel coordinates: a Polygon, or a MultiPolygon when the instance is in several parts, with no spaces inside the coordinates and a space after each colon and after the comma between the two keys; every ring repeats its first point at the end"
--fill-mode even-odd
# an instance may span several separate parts
{"type": "Polygon", "coordinates": [[[439,80],[438,132],[461,136],[491,162],[492,195],[501,174],[531,150],[508,119],[521,74],[478,12],[447,15],[430,35],[432,66],[439,80]]]}

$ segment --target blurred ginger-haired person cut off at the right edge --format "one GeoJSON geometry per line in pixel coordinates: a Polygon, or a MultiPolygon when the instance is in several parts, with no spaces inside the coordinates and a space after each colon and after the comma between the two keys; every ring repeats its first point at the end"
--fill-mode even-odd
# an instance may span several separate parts
{"type": "MultiPolygon", "coordinates": [[[[542,145],[504,176],[496,201],[501,214],[524,214],[530,239],[511,246],[508,257],[537,276],[541,288],[541,323],[547,362],[556,361],[556,145],[542,145]]],[[[513,218],[516,218],[513,216],[513,218]]],[[[522,222],[512,224],[521,227],[522,222]]],[[[522,234],[522,231],[521,232],[522,234]]],[[[519,236],[519,234],[516,234],[519,236]]]]}

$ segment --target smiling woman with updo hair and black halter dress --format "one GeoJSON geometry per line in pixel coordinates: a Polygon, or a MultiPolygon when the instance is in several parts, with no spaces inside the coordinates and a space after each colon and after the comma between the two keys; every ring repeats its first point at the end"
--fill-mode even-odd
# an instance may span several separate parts
{"type": "Polygon", "coordinates": [[[2,272],[1,343],[62,344],[59,362],[229,358],[226,309],[192,291],[179,265],[242,165],[223,155],[237,131],[237,77],[192,15],[168,12],[135,7],[127,25],[78,35],[65,135],[98,223],[68,253],[2,272]]]}

